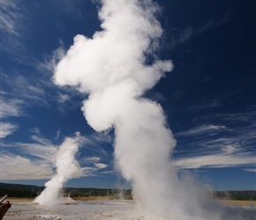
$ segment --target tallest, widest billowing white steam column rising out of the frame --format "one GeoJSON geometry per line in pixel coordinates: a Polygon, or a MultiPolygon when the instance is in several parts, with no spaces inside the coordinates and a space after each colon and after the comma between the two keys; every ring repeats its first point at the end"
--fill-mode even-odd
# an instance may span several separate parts
{"type": "Polygon", "coordinates": [[[154,54],[162,36],[157,11],[150,0],[102,0],[102,31],[92,39],[74,37],[56,65],[54,81],[88,94],[82,111],[94,130],[115,128],[117,170],[131,181],[147,215],[219,219],[202,209],[205,198],[196,187],[178,180],[169,160],[176,140],[162,107],[142,97],[173,68],[154,54]]]}

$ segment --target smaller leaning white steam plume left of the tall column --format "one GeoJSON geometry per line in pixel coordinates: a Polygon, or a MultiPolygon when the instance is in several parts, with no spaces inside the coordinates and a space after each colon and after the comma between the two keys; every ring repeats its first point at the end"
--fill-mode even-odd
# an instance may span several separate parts
{"type": "Polygon", "coordinates": [[[64,182],[70,180],[79,171],[79,164],[75,155],[82,142],[83,137],[79,136],[79,133],[76,133],[73,138],[68,137],[64,140],[56,153],[56,175],[45,184],[45,189],[35,198],[34,202],[43,205],[64,202],[64,198],[60,196],[60,190],[64,182]]]}

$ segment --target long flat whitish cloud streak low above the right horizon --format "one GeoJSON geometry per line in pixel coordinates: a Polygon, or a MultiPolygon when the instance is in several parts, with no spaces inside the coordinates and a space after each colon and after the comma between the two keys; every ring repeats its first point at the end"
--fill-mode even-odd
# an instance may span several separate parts
{"type": "Polygon", "coordinates": [[[250,154],[215,154],[193,158],[181,158],[175,161],[177,169],[235,167],[255,165],[256,159],[250,154]]]}

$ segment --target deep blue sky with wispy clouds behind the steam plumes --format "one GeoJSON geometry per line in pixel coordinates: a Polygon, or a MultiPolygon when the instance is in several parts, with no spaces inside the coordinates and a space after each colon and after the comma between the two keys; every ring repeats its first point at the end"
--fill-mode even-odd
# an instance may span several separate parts
{"type": "MultiPolygon", "coordinates": [[[[177,140],[170,158],[216,190],[255,189],[255,1],[156,1],[155,54],[174,69],[145,97],[162,106],[177,140]]],[[[101,31],[93,1],[1,3],[1,181],[43,185],[64,138],[85,143],[65,186],[127,186],[115,172],[113,130],[97,133],[81,111],[87,94],[53,82],[77,34],[101,31]]],[[[150,61],[149,61],[150,62],[150,61]]]]}

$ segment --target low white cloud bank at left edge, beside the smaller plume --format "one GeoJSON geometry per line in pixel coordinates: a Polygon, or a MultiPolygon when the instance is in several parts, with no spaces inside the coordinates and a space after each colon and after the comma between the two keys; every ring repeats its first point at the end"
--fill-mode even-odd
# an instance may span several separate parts
{"type": "Polygon", "coordinates": [[[57,146],[40,135],[31,139],[33,143],[2,143],[3,180],[45,180],[53,175],[57,146]]]}

